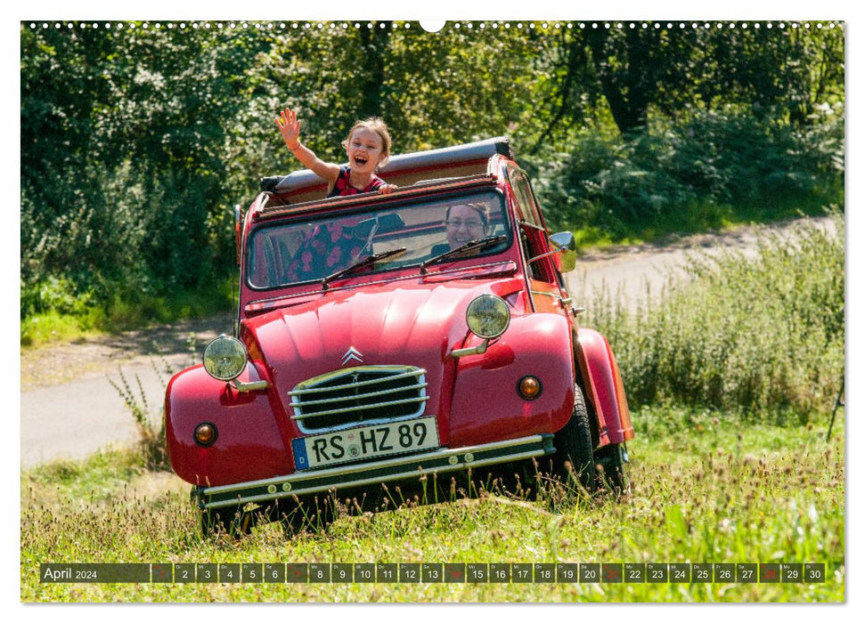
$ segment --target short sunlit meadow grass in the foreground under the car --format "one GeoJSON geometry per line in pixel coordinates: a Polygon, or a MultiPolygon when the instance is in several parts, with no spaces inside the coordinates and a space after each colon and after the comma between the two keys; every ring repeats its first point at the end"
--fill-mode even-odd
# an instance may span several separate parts
{"type": "MultiPolygon", "coordinates": [[[[843,416],[843,411],[841,414],[843,416]]],[[[842,602],[844,421],[746,425],[689,409],[634,414],[630,498],[513,496],[339,518],[287,538],[203,540],[187,489],[136,454],[21,474],[24,602],[842,602]],[[552,504],[552,500],[559,500],[552,504]],[[42,584],[40,562],[826,562],[820,585],[42,584]]]]}

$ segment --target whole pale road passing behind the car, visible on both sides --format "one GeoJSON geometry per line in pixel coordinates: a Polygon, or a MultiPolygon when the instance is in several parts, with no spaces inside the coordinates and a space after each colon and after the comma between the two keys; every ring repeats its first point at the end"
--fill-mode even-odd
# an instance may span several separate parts
{"type": "MultiPolygon", "coordinates": [[[[827,227],[832,225],[828,219],[819,221],[827,227]]],[[[784,232],[791,227],[786,223],[774,229],[784,232]]],[[[675,274],[686,262],[689,253],[722,249],[754,253],[756,230],[691,236],[665,246],[593,251],[581,255],[575,271],[567,274],[568,289],[577,304],[591,299],[592,292],[602,287],[612,293],[621,288],[629,304],[639,304],[647,284],[657,292],[666,276],[671,271],[675,274]]],[[[21,465],[86,457],[110,444],[134,442],[135,422],[111,384],[113,381],[122,387],[120,370],[135,397],[143,395],[151,419],[158,422],[171,370],[200,362],[208,341],[231,330],[231,315],[225,314],[22,352],[21,465]]]]}

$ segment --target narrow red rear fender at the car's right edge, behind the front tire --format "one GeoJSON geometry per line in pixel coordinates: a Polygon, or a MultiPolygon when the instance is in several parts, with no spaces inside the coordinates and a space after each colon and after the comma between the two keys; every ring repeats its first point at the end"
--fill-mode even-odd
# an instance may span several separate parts
{"type": "Polygon", "coordinates": [[[583,389],[598,418],[599,446],[633,439],[622,376],[607,338],[591,328],[577,332],[576,359],[583,389]]]}

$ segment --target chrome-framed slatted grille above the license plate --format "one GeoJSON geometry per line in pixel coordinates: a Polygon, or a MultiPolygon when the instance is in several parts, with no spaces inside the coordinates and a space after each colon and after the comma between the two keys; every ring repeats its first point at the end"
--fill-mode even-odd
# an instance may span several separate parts
{"type": "Polygon", "coordinates": [[[300,430],[319,433],[358,424],[418,417],[427,371],[413,366],[361,366],[316,376],[289,392],[300,430]]]}

